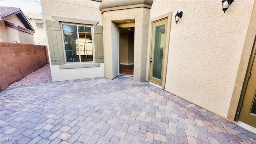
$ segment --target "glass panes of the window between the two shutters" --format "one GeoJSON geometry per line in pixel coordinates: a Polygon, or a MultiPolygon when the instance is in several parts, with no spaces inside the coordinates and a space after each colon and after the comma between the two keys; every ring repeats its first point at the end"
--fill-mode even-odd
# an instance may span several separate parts
{"type": "Polygon", "coordinates": [[[92,30],[90,26],[62,24],[66,62],[92,62],[92,30]]]}

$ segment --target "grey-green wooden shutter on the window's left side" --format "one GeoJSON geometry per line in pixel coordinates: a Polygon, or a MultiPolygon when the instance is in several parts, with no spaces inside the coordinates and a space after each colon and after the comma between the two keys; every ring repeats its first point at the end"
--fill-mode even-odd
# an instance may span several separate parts
{"type": "Polygon", "coordinates": [[[65,62],[61,40],[60,22],[46,20],[45,24],[52,65],[64,64],[65,62]]]}

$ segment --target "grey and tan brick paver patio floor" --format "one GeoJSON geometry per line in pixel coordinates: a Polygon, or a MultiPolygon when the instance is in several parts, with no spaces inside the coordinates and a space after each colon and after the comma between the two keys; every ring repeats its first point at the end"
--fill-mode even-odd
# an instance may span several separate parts
{"type": "Polygon", "coordinates": [[[0,98],[1,143],[256,143],[256,134],[127,77],[9,88],[0,98]]]}

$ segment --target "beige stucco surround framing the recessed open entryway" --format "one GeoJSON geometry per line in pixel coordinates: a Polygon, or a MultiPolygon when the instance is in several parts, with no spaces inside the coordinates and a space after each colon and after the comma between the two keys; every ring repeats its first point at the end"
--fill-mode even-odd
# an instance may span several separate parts
{"type": "Polygon", "coordinates": [[[135,82],[146,80],[146,54],[148,39],[148,20],[150,9],[131,8],[104,12],[103,35],[104,35],[104,64],[105,77],[113,79],[118,76],[118,23],[113,21],[135,19],[134,34],[134,78],[135,82]]]}

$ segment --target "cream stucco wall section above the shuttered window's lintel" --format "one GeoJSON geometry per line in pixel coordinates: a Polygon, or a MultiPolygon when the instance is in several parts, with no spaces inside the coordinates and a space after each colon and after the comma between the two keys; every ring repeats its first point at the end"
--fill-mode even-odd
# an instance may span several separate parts
{"type": "Polygon", "coordinates": [[[54,20],[52,16],[99,21],[102,26],[101,2],[92,0],[41,0],[44,20],[54,20]]]}

